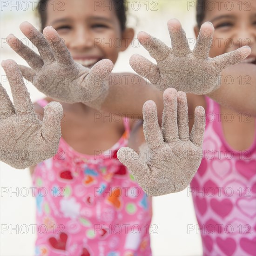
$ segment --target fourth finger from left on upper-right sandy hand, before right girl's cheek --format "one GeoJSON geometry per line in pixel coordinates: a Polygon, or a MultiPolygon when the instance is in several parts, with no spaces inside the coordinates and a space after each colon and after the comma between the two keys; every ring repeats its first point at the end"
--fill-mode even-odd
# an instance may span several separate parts
{"type": "Polygon", "coordinates": [[[199,59],[207,59],[214,34],[214,27],[211,22],[205,22],[200,28],[193,54],[199,59]]]}

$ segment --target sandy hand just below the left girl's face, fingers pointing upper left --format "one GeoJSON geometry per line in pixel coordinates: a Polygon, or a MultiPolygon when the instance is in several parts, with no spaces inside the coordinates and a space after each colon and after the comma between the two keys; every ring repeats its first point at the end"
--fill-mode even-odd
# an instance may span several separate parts
{"type": "Polygon", "coordinates": [[[38,90],[67,103],[102,101],[108,91],[104,77],[113,69],[111,61],[101,60],[91,69],[83,67],[74,62],[53,27],[46,27],[41,34],[30,23],[23,22],[20,30],[37,47],[40,55],[13,34],[7,37],[8,44],[31,67],[20,66],[20,70],[38,90]]]}

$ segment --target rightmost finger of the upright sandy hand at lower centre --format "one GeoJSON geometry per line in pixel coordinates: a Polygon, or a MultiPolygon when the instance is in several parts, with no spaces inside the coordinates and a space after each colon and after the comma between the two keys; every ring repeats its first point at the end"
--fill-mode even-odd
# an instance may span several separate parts
{"type": "Polygon", "coordinates": [[[195,123],[189,135],[190,141],[195,146],[202,148],[203,134],[205,129],[205,111],[204,108],[198,106],[195,108],[195,123]]]}

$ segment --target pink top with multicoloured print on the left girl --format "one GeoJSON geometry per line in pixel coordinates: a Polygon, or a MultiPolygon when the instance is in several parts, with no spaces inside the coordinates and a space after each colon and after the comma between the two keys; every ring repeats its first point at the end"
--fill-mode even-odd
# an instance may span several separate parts
{"type": "Polygon", "coordinates": [[[36,166],[36,255],[151,255],[151,197],[116,157],[128,143],[124,126],[103,154],[80,154],[61,137],[57,154],[36,166]]]}

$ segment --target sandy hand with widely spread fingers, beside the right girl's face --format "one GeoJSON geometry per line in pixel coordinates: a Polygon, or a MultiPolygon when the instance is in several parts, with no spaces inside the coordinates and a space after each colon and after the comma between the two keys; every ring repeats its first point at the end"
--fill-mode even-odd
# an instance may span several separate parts
{"type": "Polygon", "coordinates": [[[210,22],[202,24],[193,51],[189,49],[186,34],[178,20],[169,20],[168,30],[172,48],[145,32],[138,34],[142,46],[148,50],[157,65],[139,54],[130,58],[130,65],[135,72],[162,91],[172,87],[186,93],[210,93],[220,87],[220,73],[224,68],[235,65],[250,54],[250,47],[242,47],[209,58],[214,33],[210,22]]]}

